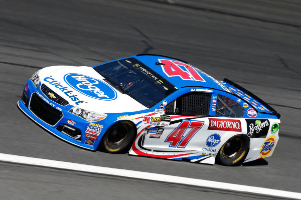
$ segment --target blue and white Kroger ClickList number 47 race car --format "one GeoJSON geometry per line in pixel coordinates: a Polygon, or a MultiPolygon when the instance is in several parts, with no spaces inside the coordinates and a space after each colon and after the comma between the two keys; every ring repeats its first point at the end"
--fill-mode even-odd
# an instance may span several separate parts
{"type": "Polygon", "coordinates": [[[160,55],[43,68],[18,106],[57,137],[109,153],[231,166],[271,156],[279,139],[267,103],[160,55]]]}

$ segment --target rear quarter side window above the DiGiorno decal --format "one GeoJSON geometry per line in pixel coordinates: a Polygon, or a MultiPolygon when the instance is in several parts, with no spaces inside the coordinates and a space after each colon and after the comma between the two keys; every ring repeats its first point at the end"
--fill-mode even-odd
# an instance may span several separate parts
{"type": "Polygon", "coordinates": [[[244,108],[232,99],[218,95],[215,116],[242,117],[244,108]]]}

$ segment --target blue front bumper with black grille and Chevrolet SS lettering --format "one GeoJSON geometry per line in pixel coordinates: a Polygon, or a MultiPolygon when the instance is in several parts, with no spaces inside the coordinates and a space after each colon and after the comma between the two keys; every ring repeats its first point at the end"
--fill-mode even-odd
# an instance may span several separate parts
{"type": "Polygon", "coordinates": [[[96,139],[88,138],[92,142],[87,142],[87,138],[85,137],[85,135],[90,122],[69,113],[68,110],[70,110],[73,107],[72,105],[61,106],[56,102],[53,102],[51,99],[47,98],[47,96],[44,95],[44,93],[41,91],[40,87],[41,83],[36,88],[30,80],[28,81],[23,91],[22,98],[17,103],[20,110],[23,111],[29,118],[31,118],[37,124],[42,126],[47,131],[51,132],[52,134],[56,135],[57,137],[74,145],[90,150],[96,150],[98,144],[100,143],[102,135],[105,132],[105,129],[101,130],[100,134],[96,137],[96,139]],[[26,101],[25,96],[27,96],[28,101],[26,101]],[[33,108],[33,104],[38,103],[42,104],[39,105],[42,108],[47,107],[47,112],[45,112],[46,110],[35,111],[33,108]],[[71,124],[70,121],[72,121],[71,124]],[[76,134],[68,134],[68,131],[66,131],[66,128],[64,129],[64,127],[69,127],[70,129],[76,130],[75,132],[77,132],[78,135],[76,136],[76,134]]]}

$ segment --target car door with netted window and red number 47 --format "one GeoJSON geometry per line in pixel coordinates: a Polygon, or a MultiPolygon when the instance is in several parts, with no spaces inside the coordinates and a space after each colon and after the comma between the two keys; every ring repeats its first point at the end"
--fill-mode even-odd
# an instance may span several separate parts
{"type": "Polygon", "coordinates": [[[212,95],[208,92],[188,92],[165,107],[165,113],[150,118],[141,145],[146,149],[183,151],[200,148],[208,123],[212,95]],[[152,125],[154,122],[154,125],[152,125]]]}

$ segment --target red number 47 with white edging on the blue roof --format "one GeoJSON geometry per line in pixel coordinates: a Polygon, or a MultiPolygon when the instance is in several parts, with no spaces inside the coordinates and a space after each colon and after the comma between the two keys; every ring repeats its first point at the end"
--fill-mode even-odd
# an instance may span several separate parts
{"type": "Polygon", "coordinates": [[[162,65],[163,72],[169,77],[180,76],[183,80],[206,82],[193,67],[186,63],[161,59],[159,59],[159,61],[164,64],[162,65]],[[185,70],[180,66],[184,66],[185,70]]]}

